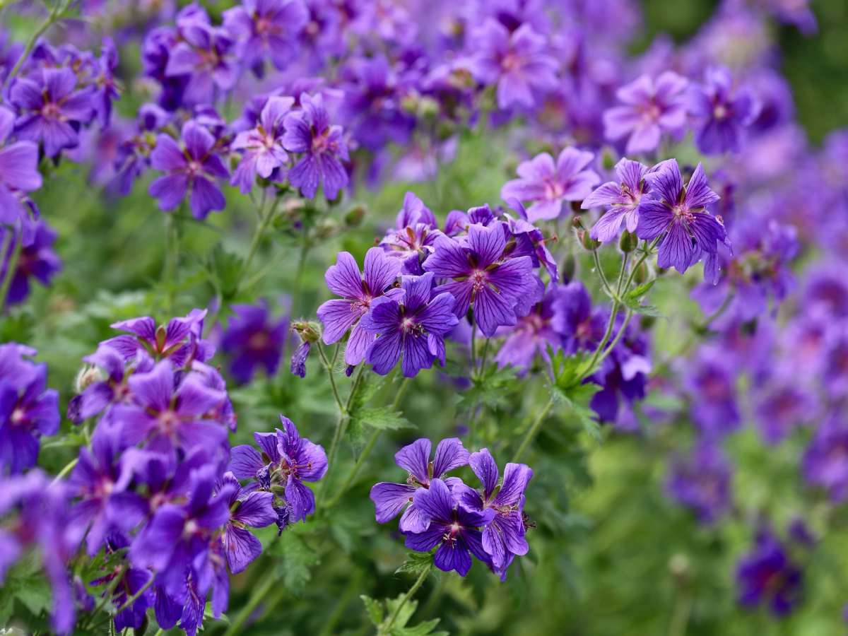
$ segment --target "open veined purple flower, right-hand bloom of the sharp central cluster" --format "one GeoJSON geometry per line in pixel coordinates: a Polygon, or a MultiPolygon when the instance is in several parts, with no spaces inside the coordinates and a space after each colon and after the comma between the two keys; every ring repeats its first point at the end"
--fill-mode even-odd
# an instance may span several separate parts
{"type": "Polygon", "coordinates": [[[472,224],[467,245],[444,238],[424,261],[424,269],[436,276],[452,278],[436,287],[455,298],[454,313],[466,315],[471,306],[474,320],[487,338],[499,326],[516,324],[516,305],[536,290],[533,260],[529,256],[509,258],[504,224],[472,224]]]}

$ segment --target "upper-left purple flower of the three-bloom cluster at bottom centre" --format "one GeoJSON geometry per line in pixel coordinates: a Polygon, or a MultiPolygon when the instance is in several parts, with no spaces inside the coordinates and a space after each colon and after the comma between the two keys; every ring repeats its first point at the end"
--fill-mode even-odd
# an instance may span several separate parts
{"type": "MultiPolygon", "coordinates": [[[[448,471],[468,464],[468,451],[459,438],[447,438],[438,443],[436,456],[430,460],[432,443],[427,438],[416,439],[394,454],[394,463],[409,472],[406,483],[376,483],[371,488],[377,523],[391,521],[404,510],[399,528],[402,533],[421,533],[427,530],[430,517],[416,508],[414,495],[418,488],[430,488],[432,480],[441,479],[448,471]]],[[[455,477],[449,477],[450,482],[455,477]]]]}

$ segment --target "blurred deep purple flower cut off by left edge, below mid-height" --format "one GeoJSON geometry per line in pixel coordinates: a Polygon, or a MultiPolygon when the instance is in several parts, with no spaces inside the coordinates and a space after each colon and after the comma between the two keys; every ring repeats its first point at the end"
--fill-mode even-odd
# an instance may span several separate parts
{"type": "Polygon", "coordinates": [[[39,438],[59,432],[59,393],[47,388],[47,365],[23,357],[35,354],[0,345],[0,475],[35,466],[39,438]]]}

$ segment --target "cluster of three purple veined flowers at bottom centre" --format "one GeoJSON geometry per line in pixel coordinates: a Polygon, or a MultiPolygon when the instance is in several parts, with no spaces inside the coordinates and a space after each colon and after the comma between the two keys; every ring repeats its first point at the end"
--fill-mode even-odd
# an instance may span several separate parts
{"type": "Polygon", "coordinates": [[[469,454],[458,438],[443,439],[430,460],[432,443],[421,438],[394,455],[408,471],[405,483],[381,482],[371,488],[377,522],[398,516],[407,548],[429,552],[438,548],[434,563],[440,570],[466,576],[471,555],[505,580],[516,556],[527,554],[524,491],[533,471],[524,464],[507,464],[503,481],[488,449],[469,454]],[[471,466],[482,489],[476,490],[449,471],[471,466]]]}

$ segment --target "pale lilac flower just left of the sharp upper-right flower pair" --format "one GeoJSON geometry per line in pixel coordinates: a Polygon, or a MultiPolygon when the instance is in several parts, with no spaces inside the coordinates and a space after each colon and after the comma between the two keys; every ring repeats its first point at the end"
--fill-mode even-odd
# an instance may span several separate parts
{"type": "Polygon", "coordinates": [[[536,155],[518,165],[520,179],[507,181],[500,190],[501,198],[533,201],[527,208],[527,220],[557,218],[566,201],[581,201],[589,196],[600,177],[587,166],[594,154],[577,148],[565,148],[554,163],[548,153],[536,155]]]}

